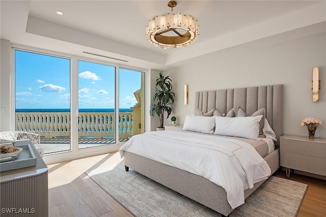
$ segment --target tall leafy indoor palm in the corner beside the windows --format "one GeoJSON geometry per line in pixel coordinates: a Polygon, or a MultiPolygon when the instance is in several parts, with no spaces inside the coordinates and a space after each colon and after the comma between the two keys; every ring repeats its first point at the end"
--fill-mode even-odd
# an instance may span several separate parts
{"type": "Polygon", "coordinates": [[[171,114],[171,105],[174,103],[175,92],[172,91],[172,80],[170,76],[159,73],[156,78],[156,90],[153,96],[154,103],[151,104],[149,112],[152,116],[159,117],[159,129],[164,129],[164,113],[171,114]]]}

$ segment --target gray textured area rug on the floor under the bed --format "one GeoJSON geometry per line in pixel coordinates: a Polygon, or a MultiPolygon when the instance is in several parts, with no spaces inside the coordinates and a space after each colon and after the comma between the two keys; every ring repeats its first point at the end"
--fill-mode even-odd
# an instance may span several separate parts
{"type": "MultiPolygon", "coordinates": [[[[221,216],[132,169],[126,172],[123,162],[85,173],[135,216],[221,216]]],[[[270,176],[230,216],[296,216],[307,187],[270,176]]]]}

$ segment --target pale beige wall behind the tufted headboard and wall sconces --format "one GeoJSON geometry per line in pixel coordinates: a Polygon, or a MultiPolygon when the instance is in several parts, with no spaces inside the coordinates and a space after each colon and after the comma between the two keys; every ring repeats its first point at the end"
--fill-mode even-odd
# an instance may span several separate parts
{"type": "MultiPolygon", "coordinates": [[[[283,42],[261,40],[214,52],[165,71],[176,91],[173,115],[183,123],[194,113],[195,92],[260,85],[284,85],[284,134],[308,136],[300,122],[305,117],[323,121],[318,128],[326,138],[326,33],[283,42]],[[312,68],[319,67],[319,102],[312,102],[312,68]],[[188,85],[188,105],[183,86],[188,85]]],[[[171,120],[166,124],[171,124],[171,120]]]]}

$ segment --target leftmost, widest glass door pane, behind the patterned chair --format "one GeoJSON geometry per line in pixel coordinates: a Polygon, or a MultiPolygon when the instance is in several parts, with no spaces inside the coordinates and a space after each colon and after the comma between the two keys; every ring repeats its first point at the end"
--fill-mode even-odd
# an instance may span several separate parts
{"type": "Polygon", "coordinates": [[[70,59],[15,50],[15,130],[41,136],[44,153],[70,146],[70,59]]]}

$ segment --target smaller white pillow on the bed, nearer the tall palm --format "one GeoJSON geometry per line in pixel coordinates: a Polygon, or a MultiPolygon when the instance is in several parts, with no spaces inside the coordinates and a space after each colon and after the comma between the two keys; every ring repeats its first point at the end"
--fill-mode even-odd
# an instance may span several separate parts
{"type": "Polygon", "coordinates": [[[182,130],[212,134],[215,127],[215,118],[207,116],[185,116],[182,130]]]}

